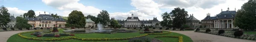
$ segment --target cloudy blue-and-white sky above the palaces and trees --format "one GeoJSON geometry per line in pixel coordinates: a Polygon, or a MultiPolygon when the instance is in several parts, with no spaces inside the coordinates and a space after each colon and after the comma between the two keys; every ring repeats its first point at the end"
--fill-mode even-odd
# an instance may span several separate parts
{"type": "Polygon", "coordinates": [[[100,11],[106,10],[110,18],[126,20],[127,17],[139,17],[140,20],[153,20],[156,17],[162,21],[161,14],[171,12],[180,7],[188,11],[188,14],[203,20],[207,13],[214,17],[216,14],[226,11],[241,9],[248,0],[0,0],[0,5],[8,8],[12,15],[20,16],[29,10],[40,14],[58,14],[67,17],[73,10],[83,12],[85,16],[97,16],[100,11]]]}

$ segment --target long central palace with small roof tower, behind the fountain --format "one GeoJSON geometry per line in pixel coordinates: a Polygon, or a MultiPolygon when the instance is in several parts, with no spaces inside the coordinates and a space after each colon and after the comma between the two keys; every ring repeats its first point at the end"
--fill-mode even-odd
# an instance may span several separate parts
{"type": "MultiPolygon", "coordinates": [[[[111,18],[114,20],[114,18],[111,18]]],[[[142,24],[145,26],[161,27],[160,21],[157,20],[157,17],[154,17],[153,20],[140,20],[139,17],[134,17],[134,14],[131,14],[131,17],[127,17],[126,20],[117,20],[119,24],[123,25],[125,28],[138,28],[142,24]],[[159,25],[155,25],[155,24],[159,25]]]]}

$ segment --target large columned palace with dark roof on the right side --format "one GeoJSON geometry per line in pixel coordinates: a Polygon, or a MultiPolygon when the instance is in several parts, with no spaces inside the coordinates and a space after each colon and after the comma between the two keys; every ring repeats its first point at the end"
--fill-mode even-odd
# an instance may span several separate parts
{"type": "Polygon", "coordinates": [[[207,14],[203,20],[201,20],[201,24],[206,28],[234,28],[233,22],[236,17],[236,8],[235,11],[230,11],[227,8],[227,11],[222,11],[221,13],[211,17],[210,14],[207,14]]]}

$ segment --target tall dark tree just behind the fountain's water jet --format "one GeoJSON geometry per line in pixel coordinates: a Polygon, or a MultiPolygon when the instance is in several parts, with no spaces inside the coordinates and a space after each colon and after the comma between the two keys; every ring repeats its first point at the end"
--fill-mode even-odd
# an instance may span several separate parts
{"type": "Polygon", "coordinates": [[[108,11],[102,10],[100,11],[100,14],[97,15],[98,20],[100,24],[102,25],[108,25],[108,22],[110,22],[108,11]]]}

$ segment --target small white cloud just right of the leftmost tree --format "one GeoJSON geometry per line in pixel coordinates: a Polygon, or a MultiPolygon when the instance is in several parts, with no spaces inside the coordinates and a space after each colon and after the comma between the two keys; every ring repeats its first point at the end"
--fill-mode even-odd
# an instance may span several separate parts
{"type": "Polygon", "coordinates": [[[23,11],[23,10],[20,10],[19,8],[16,8],[16,7],[6,7],[8,9],[8,12],[16,17],[16,16],[20,16],[20,15],[23,15],[24,13],[26,13],[27,11],[23,11]]]}

